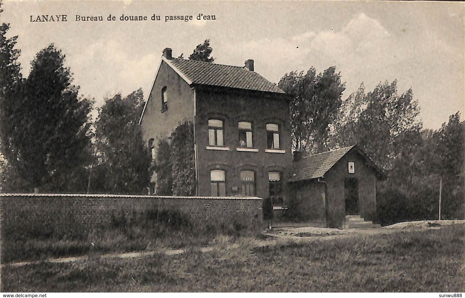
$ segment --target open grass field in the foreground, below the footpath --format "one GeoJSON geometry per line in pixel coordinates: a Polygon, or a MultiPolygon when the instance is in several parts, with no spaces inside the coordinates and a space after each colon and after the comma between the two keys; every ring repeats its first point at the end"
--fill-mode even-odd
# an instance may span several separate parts
{"type": "Polygon", "coordinates": [[[464,225],[3,269],[4,291],[465,291],[464,225]]]}

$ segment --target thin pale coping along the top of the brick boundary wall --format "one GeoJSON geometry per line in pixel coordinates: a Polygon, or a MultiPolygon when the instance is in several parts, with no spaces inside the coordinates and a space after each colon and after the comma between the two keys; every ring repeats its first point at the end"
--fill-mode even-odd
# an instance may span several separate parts
{"type": "Polygon", "coordinates": [[[134,199],[229,199],[229,200],[261,200],[259,197],[194,197],[194,196],[156,196],[103,193],[0,193],[0,197],[88,197],[88,198],[134,198],[134,199]]]}

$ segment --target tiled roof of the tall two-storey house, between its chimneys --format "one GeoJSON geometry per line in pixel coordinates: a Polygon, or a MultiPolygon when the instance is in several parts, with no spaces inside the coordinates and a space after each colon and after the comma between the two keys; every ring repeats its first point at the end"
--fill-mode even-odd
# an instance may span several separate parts
{"type": "Polygon", "coordinates": [[[230,66],[195,60],[173,58],[165,60],[192,84],[285,93],[278,86],[245,66],[230,66]]]}

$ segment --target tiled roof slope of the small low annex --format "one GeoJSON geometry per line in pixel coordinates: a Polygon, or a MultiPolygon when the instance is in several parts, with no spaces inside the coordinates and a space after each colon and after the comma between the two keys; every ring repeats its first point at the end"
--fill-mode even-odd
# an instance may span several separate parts
{"type": "Polygon", "coordinates": [[[323,177],[345,153],[354,146],[302,157],[292,163],[292,177],[289,181],[309,180],[323,177]],[[295,176],[294,176],[295,173],[295,176]]]}

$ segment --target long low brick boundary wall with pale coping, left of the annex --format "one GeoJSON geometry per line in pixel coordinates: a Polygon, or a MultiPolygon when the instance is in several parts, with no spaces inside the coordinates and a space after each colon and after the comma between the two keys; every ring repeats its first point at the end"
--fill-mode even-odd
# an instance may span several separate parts
{"type": "Polygon", "coordinates": [[[112,218],[149,210],[174,210],[199,228],[240,224],[248,231],[264,227],[258,197],[175,197],[112,194],[0,194],[1,237],[5,232],[66,235],[109,225],[112,218]]]}

